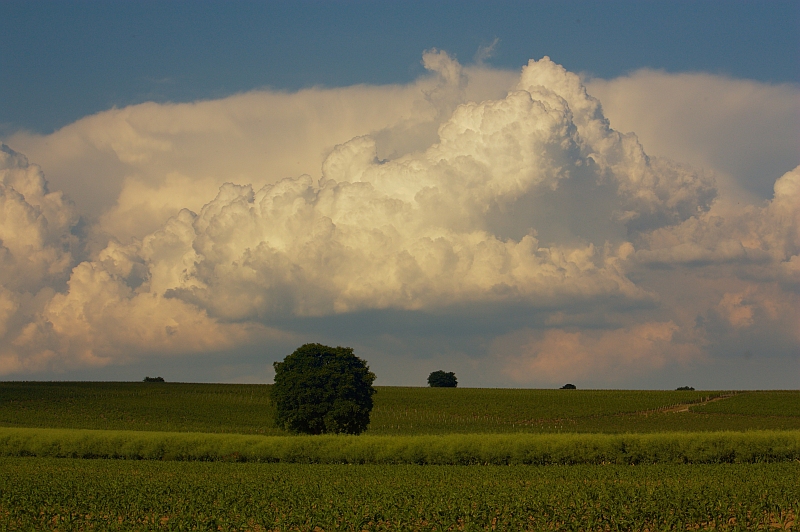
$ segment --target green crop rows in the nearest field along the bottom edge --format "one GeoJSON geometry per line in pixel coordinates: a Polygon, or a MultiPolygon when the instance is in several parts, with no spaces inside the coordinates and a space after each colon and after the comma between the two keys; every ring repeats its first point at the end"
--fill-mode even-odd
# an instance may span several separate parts
{"type": "Polygon", "coordinates": [[[4,530],[797,529],[800,464],[321,466],[0,459],[4,530]]]}

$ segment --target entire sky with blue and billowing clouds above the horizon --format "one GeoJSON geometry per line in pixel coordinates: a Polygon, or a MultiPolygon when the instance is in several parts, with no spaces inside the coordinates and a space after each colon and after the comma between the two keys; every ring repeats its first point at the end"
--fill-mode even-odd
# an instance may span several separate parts
{"type": "Polygon", "coordinates": [[[0,380],[796,389],[797,2],[4,2],[0,380]]]}

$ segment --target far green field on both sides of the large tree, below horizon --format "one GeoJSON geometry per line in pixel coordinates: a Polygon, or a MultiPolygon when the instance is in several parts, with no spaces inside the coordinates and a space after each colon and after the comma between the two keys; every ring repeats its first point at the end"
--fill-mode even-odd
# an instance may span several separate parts
{"type": "MultiPolygon", "coordinates": [[[[5,382],[0,383],[0,426],[282,435],[273,423],[269,389],[238,384],[5,382]]],[[[367,433],[800,430],[798,405],[798,391],[378,387],[367,433]]]]}

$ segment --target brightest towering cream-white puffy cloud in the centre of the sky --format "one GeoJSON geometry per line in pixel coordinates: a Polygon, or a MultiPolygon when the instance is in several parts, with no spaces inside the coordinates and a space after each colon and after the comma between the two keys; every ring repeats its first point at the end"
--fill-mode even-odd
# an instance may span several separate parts
{"type": "Polygon", "coordinates": [[[712,185],[649,161],[548,59],[521,83],[458,107],[424,152],[379,161],[359,137],[336,147],[317,183],[223,186],[164,234],[188,239],[176,245],[192,265],[164,293],[230,321],[648,298],[619,266],[620,237],[643,219],[659,226],[707,209],[712,185]],[[562,212],[542,216],[554,202],[562,212]],[[584,209],[596,217],[576,222],[584,209]]]}

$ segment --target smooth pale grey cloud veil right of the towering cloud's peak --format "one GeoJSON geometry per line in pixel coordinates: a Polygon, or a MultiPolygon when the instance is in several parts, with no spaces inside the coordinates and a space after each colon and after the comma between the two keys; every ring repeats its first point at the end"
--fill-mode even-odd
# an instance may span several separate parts
{"type": "Polygon", "coordinates": [[[713,171],[734,204],[769,198],[776,176],[800,164],[800,86],[645,69],[587,87],[614,129],[713,171]]]}

